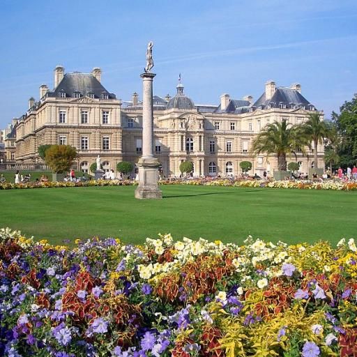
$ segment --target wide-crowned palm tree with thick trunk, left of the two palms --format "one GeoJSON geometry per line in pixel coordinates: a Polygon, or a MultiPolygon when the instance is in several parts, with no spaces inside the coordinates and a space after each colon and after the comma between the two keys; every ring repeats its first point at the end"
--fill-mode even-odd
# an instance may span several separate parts
{"type": "Polygon", "coordinates": [[[305,153],[304,146],[307,141],[304,136],[300,135],[298,127],[291,126],[287,121],[281,123],[275,121],[267,124],[261,132],[253,139],[252,153],[275,153],[278,155],[278,169],[287,169],[287,155],[296,151],[305,153]]]}

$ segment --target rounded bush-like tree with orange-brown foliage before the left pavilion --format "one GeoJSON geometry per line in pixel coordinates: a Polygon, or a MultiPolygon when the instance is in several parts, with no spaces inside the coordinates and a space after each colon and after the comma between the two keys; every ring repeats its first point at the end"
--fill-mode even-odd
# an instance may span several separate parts
{"type": "Polygon", "coordinates": [[[46,150],[45,162],[53,172],[62,174],[70,169],[76,156],[77,151],[73,146],[52,145],[46,150]]]}

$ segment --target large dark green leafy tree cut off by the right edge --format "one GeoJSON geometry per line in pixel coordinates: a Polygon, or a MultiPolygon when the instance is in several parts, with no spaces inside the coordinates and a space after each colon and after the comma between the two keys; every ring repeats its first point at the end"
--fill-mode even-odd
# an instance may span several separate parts
{"type": "Polygon", "coordinates": [[[340,114],[332,113],[332,120],[341,137],[337,149],[340,165],[354,165],[357,160],[357,93],[350,102],[344,102],[340,107],[340,114]]]}

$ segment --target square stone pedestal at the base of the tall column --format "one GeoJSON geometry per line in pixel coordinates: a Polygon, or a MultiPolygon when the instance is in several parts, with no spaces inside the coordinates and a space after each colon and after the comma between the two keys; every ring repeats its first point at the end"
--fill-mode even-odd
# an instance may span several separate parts
{"type": "Polygon", "coordinates": [[[158,185],[158,167],[160,162],[157,158],[140,158],[137,162],[139,170],[139,186],[135,190],[137,199],[161,199],[162,192],[158,185]]]}

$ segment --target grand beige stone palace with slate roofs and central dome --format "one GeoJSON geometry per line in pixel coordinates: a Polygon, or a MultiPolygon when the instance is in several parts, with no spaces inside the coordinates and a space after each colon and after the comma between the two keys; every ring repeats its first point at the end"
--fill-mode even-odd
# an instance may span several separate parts
{"type": "MultiPolygon", "coordinates": [[[[317,112],[301,94],[300,84],[278,87],[268,81],[255,102],[251,96],[234,99],[222,94],[213,105],[195,103],[185,95],[181,81],[176,91],[172,98],[153,96],[155,155],[165,176],[179,176],[185,160],[193,162],[194,176],[238,176],[239,163],[247,160],[252,162],[252,174],[272,173],[278,167],[276,156],[253,156],[252,139],[267,123],[303,123],[317,112]]],[[[39,98],[30,98],[27,112],[12,123],[4,139],[7,162],[40,162],[38,146],[43,144],[75,146],[75,166],[84,172],[97,155],[105,171],[115,171],[123,160],[135,163],[142,155],[142,102],[137,93],[129,101],[109,93],[100,68],[65,73],[56,66],[54,89],[41,85],[39,98]]],[[[324,146],[315,149],[322,167],[324,146]]],[[[316,167],[312,157],[311,151],[307,156],[298,153],[301,172],[316,167]]]]}

